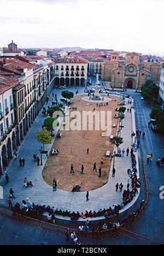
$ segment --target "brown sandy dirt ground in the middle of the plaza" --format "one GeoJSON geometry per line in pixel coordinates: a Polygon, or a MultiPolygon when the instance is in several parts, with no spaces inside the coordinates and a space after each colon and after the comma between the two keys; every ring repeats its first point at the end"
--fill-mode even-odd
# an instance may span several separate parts
{"type": "MultiPolygon", "coordinates": [[[[107,111],[112,111],[112,135],[116,136],[118,119],[114,118],[116,112],[114,109],[119,108],[118,102],[121,99],[118,97],[110,96],[112,101],[108,105],[103,104],[97,107],[97,103],[89,103],[81,101],[84,96],[75,96],[72,99],[72,107],[77,107],[77,111],[81,116],[83,111],[105,111],[107,118],[107,111]]],[[[70,119],[70,121],[72,118],[70,119]]],[[[106,120],[107,122],[107,120],[106,120]]],[[[81,121],[81,127],[82,127],[81,121]]],[[[107,123],[106,123],[107,124],[107,123]]],[[[93,130],[62,130],[61,138],[56,138],[52,145],[51,152],[54,148],[59,150],[57,155],[49,154],[49,158],[43,169],[43,179],[46,183],[52,186],[52,180],[57,181],[57,188],[65,191],[72,191],[73,186],[80,185],[80,191],[95,190],[98,187],[105,185],[108,181],[111,155],[113,154],[114,144],[110,143],[110,136],[102,137],[101,130],[95,130],[95,119],[93,118],[93,130]],[[89,154],[86,153],[89,147],[89,154]],[[110,151],[110,157],[106,157],[106,152],[110,151]],[[103,164],[101,159],[103,158],[103,164]],[[96,171],[93,170],[93,164],[96,163],[96,171]],[[74,173],[71,173],[71,164],[73,164],[74,173]],[[84,174],[80,174],[81,165],[84,165],[84,174]],[[101,167],[101,177],[98,177],[98,170],[101,167]]]]}

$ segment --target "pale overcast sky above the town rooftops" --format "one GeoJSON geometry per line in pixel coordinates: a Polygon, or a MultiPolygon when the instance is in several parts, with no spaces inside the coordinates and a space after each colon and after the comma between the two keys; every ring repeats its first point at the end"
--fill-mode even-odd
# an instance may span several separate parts
{"type": "Polygon", "coordinates": [[[0,0],[0,46],[164,55],[164,0],[0,0]]]}

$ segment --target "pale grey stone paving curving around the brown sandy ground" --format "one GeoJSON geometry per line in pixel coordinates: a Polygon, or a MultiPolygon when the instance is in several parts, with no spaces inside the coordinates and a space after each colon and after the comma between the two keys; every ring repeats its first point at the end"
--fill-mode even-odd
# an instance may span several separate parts
{"type": "MultiPolygon", "coordinates": [[[[8,184],[5,182],[6,173],[2,176],[0,185],[3,186],[4,198],[0,199],[0,205],[8,207],[9,190],[11,187],[13,188],[14,196],[16,197],[12,201],[12,204],[14,205],[16,202],[19,202],[21,207],[22,199],[26,198],[29,198],[31,203],[45,204],[46,206],[50,205],[51,207],[54,206],[55,208],[61,210],[70,210],[71,212],[79,211],[79,213],[85,213],[86,210],[95,210],[97,212],[100,208],[109,208],[113,204],[120,204],[122,202],[122,192],[124,191],[124,189],[127,188],[128,179],[131,185],[131,179],[127,174],[127,169],[131,168],[131,157],[130,154],[128,155],[128,157],[126,157],[126,152],[124,158],[115,157],[115,177],[112,177],[112,160],[107,184],[103,187],[97,188],[96,190],[89,191],[89,201],[87,202],[86,192],[72,193],[58,189],[56,190],[56,192],[53,192],[52,187],[44,182],[44,180],[42,179],[42,170],[46,162],[46,155],[42,154],[42,166],[38,166],[37,162],[34,162],[33,160],[34,153],[37,153],[40,158],[39,149],[42,144],[37,142],[35,133],[42,127],[44,119],[45,117],[42,115],[41,110],[36,118],[36,121],[34,121],[34,124],[32,125],[30,131],[27,133],[24,141],[19,147],[17,154],[20,157],[25,158],[25,166],[19,167],[19,158],[17,158],[16,161],[13,159],[11,160],[6,172],[9,175],[8,184]],[[25,177],[27,177],[28,181],[33,182],[32,188],[24,186],[25,177]],[[117,182],[122,182],[122,184],[124,185],[122,192],[119,192],[119,190],[117,192],[115,191],[115,185],[117,182]]],[[[122,124],[124,125],[124,128],[122,128],[121,130],[121,137],[123,137],[124,143],[120,145],[120,148],[121,150],[125,148],[126,151],[127,147],[131,149],[132,144],[132,123],[130,113],[125,113],[125,119],[123,120],[122,124]]],[[[55,137],[52,137],[51,144],[45,145],[46,151],[50,151],[54,140],[55,137]]],[[[117,149],[114,149],[114,151],[116,151],[117,153],[117,149]]],[[[113,152],[111,152],[111,154],[113,154],[113,152]]],[[[137,155],[136,159],[138,159],[137,155]]],[[[132,203],[133,201],[131,202],[131,204],[132,203]]],[[[130,204],[127,204],[126,206],[129,207],[130,204]]]]}

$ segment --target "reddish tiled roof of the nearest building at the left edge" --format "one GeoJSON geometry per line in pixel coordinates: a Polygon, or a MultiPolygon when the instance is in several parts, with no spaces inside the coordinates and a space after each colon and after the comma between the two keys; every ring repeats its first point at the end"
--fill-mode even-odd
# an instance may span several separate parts
{"type": "Polygon", "coordinates": [[[0,75],[0,94],[9,90],[13,86],[17,85],[19,82],[12,77],[0,75]]]}

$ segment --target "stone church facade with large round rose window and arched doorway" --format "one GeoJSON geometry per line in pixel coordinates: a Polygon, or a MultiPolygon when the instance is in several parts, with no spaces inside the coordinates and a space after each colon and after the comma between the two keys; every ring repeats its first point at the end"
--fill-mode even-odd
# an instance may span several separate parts
{"type": "Polygon", "coordinates": [[[125,60],[112,53],[102,64],[102,79],[110,81],[111,87],[139,89],[148,79],[159,82],[161,66],[158,62],[140,62],[134,52],[126,54],[125,60]]]}

